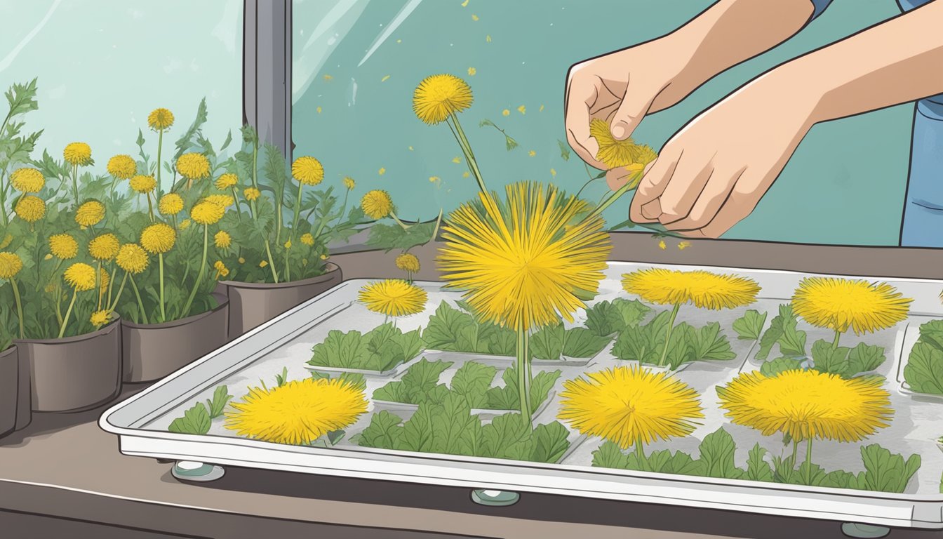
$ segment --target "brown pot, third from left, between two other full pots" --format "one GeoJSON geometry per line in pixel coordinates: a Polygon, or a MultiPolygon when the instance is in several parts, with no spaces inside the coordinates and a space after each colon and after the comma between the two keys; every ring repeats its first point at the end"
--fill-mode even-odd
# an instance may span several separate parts
{"type": "Polygon", "coordinates": [[[122,320],[124,381],[162,379],[225,345],[229,333],[229,299],[213,293],[218,306],[163,324],[135,324],[122,320]]]}

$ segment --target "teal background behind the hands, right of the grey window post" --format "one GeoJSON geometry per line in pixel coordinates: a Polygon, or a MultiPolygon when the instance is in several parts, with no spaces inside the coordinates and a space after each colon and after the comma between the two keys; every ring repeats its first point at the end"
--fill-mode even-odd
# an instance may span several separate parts
{"type": "MultiPolygon", "coordinates": [[[[461,0],[294,0],[295,156],[322,160],[334,184],[354,177],[356,196],[388,190],[401,217],[429,219],[440,207],[454,209],[475,194],[474,181],[462,177],[464,162],[452,161],[460,152],[448,127],[425,126],[411,109],[413,89],[423,77],[452,73],[472,86],[474,104],[460,120],[489,188],[533,179],[575,192],[587,171],[575,154],[564,160],[557,146],[565,141],[563,84],[569,66],[661,36],[710,4],[469,0],[462,7],[461,0]],[[469,76],[470,67],[475,76],[469,76]],[[524,114],[517,110],[521,105],[524,114]],[[503,109],[510,114],[503,116],[503,109]],[[501,133],[478,126],[486,118],[520,147],[507,151],[501,133]]],[[[835,0],[793,39],[646,118],[635,138],[660,147],[692,116],[749,78],[897,13],[893,0],[835,0]]],[[[913,105],[905,104],[815,126],[756,211],[725,237],[897,244],[912,115],[913,105]]],[[[584,193],[596,199],[605,186],[597,181],[584,193]]],[[[627,205],[628,198],[620,201],[607,220],[624,220],[627,205]]]]}

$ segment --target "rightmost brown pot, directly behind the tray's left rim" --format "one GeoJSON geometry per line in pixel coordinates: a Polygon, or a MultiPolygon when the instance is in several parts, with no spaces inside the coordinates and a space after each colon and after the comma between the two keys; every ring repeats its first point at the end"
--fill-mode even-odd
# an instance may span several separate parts
{"type": "Polygon", "coordinates": [[[278,284],[220,281],[217,292],[224,286],[229,296],[229,338],[235,339],[282,312],[339,285],[343,280],[339,266],[328,262],[325,269],[327,271],[318,277],[278,284]]]}

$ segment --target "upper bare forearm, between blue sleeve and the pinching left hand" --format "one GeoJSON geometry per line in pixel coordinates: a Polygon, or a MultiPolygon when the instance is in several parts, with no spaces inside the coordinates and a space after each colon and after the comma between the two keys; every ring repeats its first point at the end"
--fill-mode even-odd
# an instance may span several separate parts
{"type": "Polygon", "coordinates": [[[786,41],[813,13],[810,0],[720,0],[670,34],[693,91],[720,72],[786,41]]]}

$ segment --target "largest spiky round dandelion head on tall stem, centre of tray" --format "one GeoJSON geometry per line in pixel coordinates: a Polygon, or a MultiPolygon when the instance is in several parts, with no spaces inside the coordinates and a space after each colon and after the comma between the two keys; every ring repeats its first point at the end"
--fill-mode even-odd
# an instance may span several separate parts
{"type": "Polygon", "coordinates": [[[439,267],[465,291],[475,312],[517,330],[543,327],[584,307],[596,292],[611,249],[600,218],[567,225],[584,209],[554,186],[520,182],[506,203],[479,194],[480,204],[455,210],[442,228],[439,267]]]}

